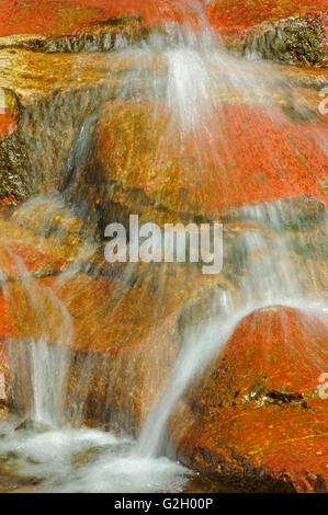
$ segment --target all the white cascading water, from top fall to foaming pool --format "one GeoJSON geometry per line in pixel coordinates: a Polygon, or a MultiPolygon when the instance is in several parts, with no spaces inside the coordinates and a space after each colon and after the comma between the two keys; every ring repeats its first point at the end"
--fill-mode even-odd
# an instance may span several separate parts
{"type": "MultiPolygon", "coordinates": [[[[154,149],[154,161],[167,157],[167,148],[178,127],[181,137],[178,145],[183,147],[179,149],[179,157],[193,161],[196,156],[207,165],[200,170],[197,178],[186,179],[190,182],[206,182],[211,179],[208,170],[218,169],[222,172],[219,180],[212,186],[215,193],[216,190],[225,190],[228,183],[227,162],[233,163],[235,159],[235,149],[229,147],[229,137],[224,129],[229,116],[224,105],[227,99],[234,99],[238,115],[242,114],[242,106],[250,99],[257,102],[261,106],[261,113],[264,113],[268,119],[276,122],[281,128],[281,131],[278,130],[281,141],[287,138],[283,128],[290,127],[291,122],[282,112],[278,115],[272,107],[272,98],[278,98],[284,107],[286,104],[291,105],[298,116],[308,115],[310,110],[307,100],[298,91],[293,93],[290,81],[280,75],[276,68],[228,55],[204,23],[202,34],[194,35],[186,30],[177,31],[177,27],[169,27],[167,34],[151,36],[139,45],[124,45],[121,48],[117,44],[115,58],[118,56],[122,61],[128,60],[131,70],[126,73],[125,83],[116,88],[115,100],[132,98],[136,103],[139,102],[140,98],[134,93],[132,84],[134,81],[144,80],[148,73],[146,92],[142,99],[163,101],[169,112],[165,136],[159,148],[154,149]],[[162,65],[165,73],[155,77],[149,70],[146,72],[147,64],[152,61],[162,65]],[[184,148],[185,136],[191,138],[195,149],[192,157],[189,156],[188,148],[184,148]],[[226,144],[222,151],[217,148],[218,140],[223,146],[226,144]]],[[[94,113],[97,112],[94,110],[94,113]]],[[[84,170],[86,161],[90,159],[93,150],[91,133],[98,116],[94,113],[82,124],[68,160],[64,201],[58,199],[59,197],[33,199],[16,209],[16,224],[24,224],[24,220],[31,218],[30,210],[34,213],[33,209],[41,206],[43,224],[38,230],[42,236],[46,234],[48,238],[56,233],[58,239],[65,239],[66,218],[64,217],[59,227],[54,224],[58,217],[58,208],[61,216],[61,210],[67,208],[65,203],[70,204],[72,210],[79,211],[80,215],[82,213],[87,218],[88,202],[83,198],[81,209],[80,197],[75,195],[81,187],[80,181],[83,181],[83,175],[79,172],[84,170]],[[47,209],[44,207],[46,205],[47,209]]],[[[154,108],[154,119],[157,121],[160,116],[160,110],[154,108]]],[[[253,136],[255,145],[257,137],[259,134],[253,136]]],[[[318,139],[316,134],[313,138],[318,139]]],[[[327,154],[326,142],[320,141],[320,146],[327,154]]],[[[283,156],[272,154],[268,141],[267,146],[264,145],[262,161],[270,159],[272,165],[279,168],[283,156]]],[[[108,188],[109,192],[110,190],[111,187],[108,188]]],[[[239,191],[242,187],[239,188],[237,184],[235,190],[239,195],[238,199],[242,201],[244,192],[239,191]]],[[[195,204],[199,201],[197,193],[194,201],[195,204]]],[[[73,352],[70,354],[68,351],[76,337],[69,306],[59,300],[53,289],[46,286],[41,288],[25,265],[15,256],[11,256],[19,270],[15,274],[11,271],[12,275],[23,277],[19,285],[20,296],[16,297],[16,285],[14,281],[11,282],[12,277],[10,281],[4,278],[2,287],[5,301],[9,305],[16,304],[14,312],[20,327],[27,328],[27,334],[23,331],[19,339],[8,341],[11,403],[19,417],[0,424],[1,470],[9,471],[10,466],[14,464],[16,476],[37,491],[148,492],[181,491],[186,488],[190,472],[166,457],[173,457],[174,453],[170,445],[169,420],[179,407],[179,400],[185,389],[206,370],[206,366],[223,350],[240,320],[256,309],[279,305],[310,312],[313,317],[327,323],[328,301],[318,284],[315,267],[308,262],[307,268],[304,270],[293,258],[292,251],[296,244],[297,251],[301,248],[301,251],[305,252],[312,248],[312,241],[304,236],[304,222],[293,213],[292,201],[291,206],[286,202],[278,201],[240,208],[238,221],[249,224],[249,229],[238,232],[234,220],[229,220],[227,227],[231,226],[231,232],[235,231],[230,255],[231,261],[235,260],[234,266],[241,271],[238,272],[240,281],[235,290],[218,290],[213,300],[213,311],[216,313],[214,317],[211,316],[211,319],[206,320],[205,313],[203,322],[195,327],[191,320],[190,327],[183,331],[181,350],[173,368],[168,373],[163,386],[161,385],[137,440],[124,434],[117,436],[101,430],[77,427],[83,422],[88,394],[81,393],[78,397],[79,405],[75,405],[75,399],[71,400],[68,394],[68,369],[72,363],[78,363],[78,358],[75,360],[75,357],[71,357],[73,352]],[[293,231],[285,230],[286,227],[293,227],[297,232],[297,241],[293,231]],[[75,415],[69,417],[68,413],[75,415]]],[[[323,238],[327,238],[326,213],[321,215],[318,226],[323,238]]],[[[94,227],[91,229],[95,231],[94,227]]],[[[59,287],[79,278],[79,274],[86,273],[86,270],[89,270],[89,261],[97,254],[97,237],[93,240],[93,237],[86,236],[88,231],[82,233],[82,237],[81,233],[82,229],[79,227],[77,238],[83,241],[76,252],[75,260],[65,272],[56,272],[55,291],[56,288],[59,290],[59,287]]],[[[94,275],[97,276],[95,272],[94,275]]],[[[133,283],[133,265],[127,265],[121,275],[126,283],[133,283]]],[[[149,273],[149,283],[150,278],[149,273]]],[[[145,282],[147,281],[146,274],[145,282]]],[[[162,281],[166,281],[165,275],[162,281]]],[[[118,307],[122,300],[120,291],[111,291],[111,295],[118,297],[118,307]]],[[[157,359],[152,358],[154,369],[149,370],[149,375],[157,375],[159,356],[162,358],[160,354],[157,359]]],[[[120,360],[117,363],[120,364],[120,360]]],[[[82,386],[88,381],[91,389],[91,369],[92,365],[86,359],[75,385],[78,392],[84,392],[82,386]]],[[[120,376],[124,374],[123,369],[115,370],[115,380],[117,378],[118,382],[120,376]]],[[[155,385],[158,384],[155,381],[155,385]]],[[[106,392],[110,407],[113,390],[114,385],[111,384],[106,392]]],[[[127,393],[125,391],[125,394],[127,393]]],[[[120,413],[118,419],[123,421],[125,415],[126,413],[120,413]]],[[[123,427],[122,423],[121,433],[124,430],[126,427],[123,427]]]]}

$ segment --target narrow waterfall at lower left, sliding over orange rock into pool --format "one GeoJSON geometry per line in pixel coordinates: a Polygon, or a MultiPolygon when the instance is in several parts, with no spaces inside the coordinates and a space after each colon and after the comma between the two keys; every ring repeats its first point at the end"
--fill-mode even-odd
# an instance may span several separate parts
{"type": "Polygon", "coordinates": [[[7,342],[11,403],[34,422],[59,426],[68,346],[72,341],[71,318],[53,289],[39,286],[22,259],[8,249],[2,252],[11,259],[11,273],[20,277],[18,288],[3,281],[5,301],[22,332],[24,327],[29,330],[27,334],[7,342]]]}

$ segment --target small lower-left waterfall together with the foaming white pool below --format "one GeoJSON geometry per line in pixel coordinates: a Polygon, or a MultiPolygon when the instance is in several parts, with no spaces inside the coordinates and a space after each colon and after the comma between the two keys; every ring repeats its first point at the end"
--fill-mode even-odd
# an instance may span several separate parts
{"type": "MultiPolygon", "coordinates": [[[[12,416],[0,423],[1,473],[7,472],[10,477],[15,464],[19,466],[18,473],[14,473],[15,484],[27,490],[33,485],[34,491],[41,492],[182,489],[189,472],[178,464],[166,458],[139,457],[135,454],[132,438],[117,438],[100,430],[72,428],[65,420],[65,376],[72,337],[71,320],[54,294],[41,289],[22,261],[12,258],[24,274],[22,296],[31,302],[34,319],[30,330],[37,334],[37,329],[41,329],[42,337],[8,342],[11,402],[20,417],[12,416]],[[50,313],[46,300],[50,301],[50,313]],[[48,323],[44,324],[45,317],[48,323]],[[53,323],[58,324],[59,336],[53,323]],[[53,341],[54,335],[56,342],[53,341]]],[[[4,283],[3,288],[8,304],[10,300],[21,301],[10,299],[10,285],[4,283]]],[[[16,313],[22,316],[20,306],[16,313]]],[[[88,377],[83,376],[83,379],[88,377]]]]}

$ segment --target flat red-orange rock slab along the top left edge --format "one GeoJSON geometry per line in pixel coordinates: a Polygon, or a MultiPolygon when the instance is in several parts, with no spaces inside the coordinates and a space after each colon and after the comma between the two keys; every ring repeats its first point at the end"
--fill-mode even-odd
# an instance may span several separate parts
{"type": "Polygon", "coordinates": [[[90,23],[131,14],[142,16],[145,24],[196,23],[196,10],[190,0],[2,0],[0,36],[69,34],[90,23]]]}

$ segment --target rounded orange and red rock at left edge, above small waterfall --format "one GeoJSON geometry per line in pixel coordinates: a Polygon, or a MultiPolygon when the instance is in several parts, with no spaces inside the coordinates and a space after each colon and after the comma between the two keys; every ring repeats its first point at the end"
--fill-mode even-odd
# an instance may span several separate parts
{"type": "MultiPolygon", "coordinates": [[[[65,209],[46,202],[30,207],[25,205],[11,216],[7,214],[5,219],[1,218],[0,270],[3,285],[0,291],[0,342],[8,337],[27,336],[29,331],[33,336],[35,323],[38,328],[46,325],[47,322],[39,323],[39,319],[47,310],[52,323],[54,305],[50,291],[39,283],[46,282],[45,277],[57,277],[70,266],[80,252],[80,230],[78,218],[69,217],[65,209]],[[49,224],[54,234],[39,230],[41,220],[49,224]],[[56,238],[56,228],[60,228],[60,239],[56,238]]],[[[81,254],[81,259],[84,256],[81,254]]],[[[60,320],[59,312],[57,316],[60,320]]]]}

